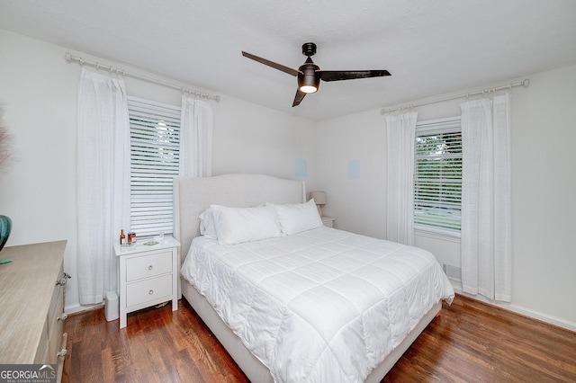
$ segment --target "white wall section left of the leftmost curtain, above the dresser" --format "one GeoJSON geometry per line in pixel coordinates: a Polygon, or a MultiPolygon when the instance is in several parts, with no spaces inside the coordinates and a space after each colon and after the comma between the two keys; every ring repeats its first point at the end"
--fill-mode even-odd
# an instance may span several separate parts
{"type": "Polygon", "coordinates": [[[0,174],[0,211],[13,220],[6,245],[67,239],[65,271],[76,284],[76,94],[64,50],[0,30],[0,102],[13,161],[0,174]]]}

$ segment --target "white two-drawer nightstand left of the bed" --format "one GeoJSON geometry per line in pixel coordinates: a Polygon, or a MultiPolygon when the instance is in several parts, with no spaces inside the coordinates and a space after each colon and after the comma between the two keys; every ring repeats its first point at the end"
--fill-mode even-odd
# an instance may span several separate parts
{"type": "Polygon", "coordinates": [[[172,237],[157,245],[144,245],[151,239],[140,239],[135,245],[114,245],[119,261],[120,328],[126,327],[128,313],[172,300],[172,311],[178,309],[178,248],[172,237]]]}

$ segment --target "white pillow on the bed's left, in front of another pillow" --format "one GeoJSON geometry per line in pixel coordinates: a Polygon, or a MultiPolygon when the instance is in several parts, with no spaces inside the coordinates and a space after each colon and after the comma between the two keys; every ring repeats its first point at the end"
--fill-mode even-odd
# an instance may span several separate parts
{"type": "Polygon", "coordinates": [[[271,206],[228,208],[211,205],[210,208],[220,245],[235,245],[282,235],[275,209],[271,206]]]}

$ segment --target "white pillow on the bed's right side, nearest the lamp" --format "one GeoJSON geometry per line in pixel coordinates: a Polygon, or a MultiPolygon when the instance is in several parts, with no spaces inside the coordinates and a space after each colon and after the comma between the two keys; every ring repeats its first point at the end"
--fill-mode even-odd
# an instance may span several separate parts
{"type": "Polygon", "coordinates": [[[288,203],[272,205],[276,210],[282,232],[286,235],[301,233],[316,227],[322,227],[322,218],[314,199],[306,203],[288,203]]]}

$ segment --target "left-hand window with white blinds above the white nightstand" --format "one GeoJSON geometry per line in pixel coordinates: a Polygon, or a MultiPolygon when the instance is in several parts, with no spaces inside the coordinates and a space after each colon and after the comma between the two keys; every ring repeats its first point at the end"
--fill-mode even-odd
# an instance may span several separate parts
{"type": "Polygon", "coordinates": [[[172,233],[172,184],[178,175],[180,107],[128,97],[130,230],[172,233]]]}

